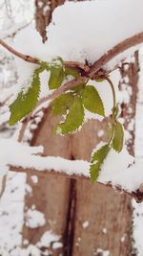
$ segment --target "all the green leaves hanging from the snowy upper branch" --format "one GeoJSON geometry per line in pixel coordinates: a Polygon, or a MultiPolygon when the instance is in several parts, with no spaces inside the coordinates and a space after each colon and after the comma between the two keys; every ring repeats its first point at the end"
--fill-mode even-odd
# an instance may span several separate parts
{"type": "MultiPolygon", "coordinates": [[[[57,89],[69,76],[77,78],[81,74],[73,68],[65,67],[61,58],[56,58],[51,63],[39,61],[39,67],[34,71],[31,85],[28,90],[22,89],[16,100],[10,105],[10,125],[14,125],[26,117],[34,109],[38,102],[40,93],[39,75],[44,70],[50,72],[48,86],[50,89],[57,89]]],[[[103,79],[96,80],[97,82],[103,79]]],[[[113,89],[112,89],[113,90],[113,89]]],[[[115,92],[113,92],[114,94],[115,92]]],[[[115,102],[115,101],[114,101],[115,102]]],[[[70,91],[60,95],[51,103],[51,113],[63,116],[64,121],[57,124],[55,132],[68,134],[80,128],[84,123],[85,109],[92,113],[105,116],[104,105],[94,86],[85,83],[78,84],[70,91]]],[[[117,121],[118,107],[112,107],[111,135],[109,142],[92,154],[90,175],[94,182],[101,171],[104,160],[113,149],[116,152],[122,151],[124,142],[124,131],[122,125],[117,121]]]]}

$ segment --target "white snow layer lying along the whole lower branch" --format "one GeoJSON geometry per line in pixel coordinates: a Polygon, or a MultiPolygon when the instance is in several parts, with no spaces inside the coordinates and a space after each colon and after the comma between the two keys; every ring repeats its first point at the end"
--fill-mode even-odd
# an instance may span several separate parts
{"type": "MultiPolygon", "coordinates": [[[[83,160],[68,160],[54,156],[34,155],[42,152],[42,147],[29,147],[14,140],[0,140],[1,173],[8,171],[8,165],[30,168],[37,171],[51,171],[66,175],[84,175],[89,177],[90,163],[83,160]]],[[[101,183],[112,182],[113,186],[121,186],[127,191],[135,191],[143,183],[142,163],[134,164],[134,157],[124,149],[117,153],[110,151],[104,161],[98,181],[101,183]],[[117,163],[117,164],[116,164],[117,163]]]]}

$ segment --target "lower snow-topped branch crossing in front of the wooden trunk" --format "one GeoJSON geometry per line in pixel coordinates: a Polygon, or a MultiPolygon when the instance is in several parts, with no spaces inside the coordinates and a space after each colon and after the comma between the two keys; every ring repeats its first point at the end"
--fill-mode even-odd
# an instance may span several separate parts
{"type": "MultiPolygon", "coordinates": [[[[90,176],[88,173],[88,169],[90,166],[90,163],[87,161],[83,160],[67,160],[61,157],[53,157],[53,156],[35,156],[32,155],[30,161],[27,160],[26,164],[21,161],[21,158],[18,160],[15,165],[10,164],[10,170],[17,172],[17,173],[27,173],[29,175],[60,175],[60,176],[65,176],[67,178],[73,178],[73,179],[89,179],[90,181],[90,176]],[[32,164],[31,164],[32,163],[32,164]],[[37,169],[37,167],[39,169],[37,169]]],[[[135,169],[135,167],[134,167],[135,169]]],[[[133,172],[135,171],[133,169],[133,172]]],[[[123,170],[124,172],[125,170],[123,170]]],[[[128,176],[125,176],[130,180],[132,184],[134,177],[136,177],[136,173],[131,172],[130,174],[130,169],[128,172],[128,176]],[[131,178],[132,177],[132,178],[131,178]]],[[[114,171],[116,172],[116,170],[114,171]]],[[[120,172],[119,175],[117,175],[117,178],[120,180],[124,180],[123,172],[120,172]]],[[[137,202],[142,202],[143,201],[143,183],[140,180],[140,175],[141,175],[141,170],[139,172],[138,176],[138,183],[139,186],[136,188],[134,191],[131,189],[128,189],[127,184],[126,188],[122,187],[120,183],[115,183],[114,182],[114,177],[112,175],[111,179],[104,179],[104,173],[102,172],[102,175],[99,176],[97,182],[110,187],[111,189],[115,189],[116,191],[120,193],[124,193],[128,195],[131,198],[134,198],[137,202]]],[[[143,180],[143,179],[142,179],[143,180]]],[[[136,180],[135,180],[136,181],[136,180]]]]}

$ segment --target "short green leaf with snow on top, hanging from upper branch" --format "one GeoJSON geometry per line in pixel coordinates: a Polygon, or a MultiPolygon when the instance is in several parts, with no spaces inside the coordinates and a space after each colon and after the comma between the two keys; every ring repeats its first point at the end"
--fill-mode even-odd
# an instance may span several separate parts
{"type": "Polygon", "coordinates": [[[49,87],[50,89],[56,89],[61,85],[62,81],[64,80],[64,69],[62,59],[53,59],[50,66],[50,70],[51,76],[49,80],[49,87]]]}

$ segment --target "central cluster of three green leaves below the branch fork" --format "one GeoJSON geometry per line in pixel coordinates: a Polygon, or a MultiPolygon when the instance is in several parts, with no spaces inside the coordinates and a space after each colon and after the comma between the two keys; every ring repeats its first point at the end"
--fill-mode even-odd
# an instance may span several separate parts
{"type": "Polygon", "coordinates": [[[65,121],[56,126],[56,132],[67,134],[81,127],[85,108],[92,113],[105,116],[104,106],[97,90],[86,83],[77,85],[70,92],[55,99],[51,104],[51,113],[65,117],[65,121]]]}

